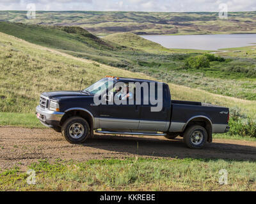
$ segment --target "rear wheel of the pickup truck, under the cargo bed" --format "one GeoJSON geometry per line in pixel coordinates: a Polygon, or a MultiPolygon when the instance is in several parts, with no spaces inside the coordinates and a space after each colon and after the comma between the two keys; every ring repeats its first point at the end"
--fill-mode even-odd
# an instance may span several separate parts
{"type": "Polygon", "coordinates": [[[201,149],[204,147],[207,137],[207,131],[204,127],[190,126],[184,132],[183,141],[189,148],[201,149]],[[196,138],[196,136],[198,136],[200,139],[196,138]]]}

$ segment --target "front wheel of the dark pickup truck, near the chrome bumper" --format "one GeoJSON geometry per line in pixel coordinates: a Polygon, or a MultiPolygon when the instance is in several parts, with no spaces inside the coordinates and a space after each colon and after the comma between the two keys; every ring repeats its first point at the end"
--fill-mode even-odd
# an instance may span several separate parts
{"type": "Polygon", "coordinates": [[[61,133],[69,143],[84,143],[90,136],[90,126],[81,117],[71,117],[64,122],[61,127],[61,133]]]}

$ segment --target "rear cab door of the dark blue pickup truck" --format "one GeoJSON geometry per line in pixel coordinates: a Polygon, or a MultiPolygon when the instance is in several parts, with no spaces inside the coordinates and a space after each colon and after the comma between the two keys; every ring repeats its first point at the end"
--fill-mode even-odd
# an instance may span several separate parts
{"type": "MultiPolygon", "coordinates": [[[[152,82],[150,82],[152,83],[152,82]]],[[[140,130],[152,130],[152,131],[167,131],[170,125],[170,91],[168,89],[168,85],[162,84],[163,88],[163,97],[157,98],[157,83],[155,83],[155,94],[154,96],[150,96],[149,94],[141,94],[141,106],[140,106],[140,130]],[[148,104],[143,103],[143,99],[148,97],[148,104]],[[156,107],[157,105],[152,105],[152,100],[150,98],[154,97],[160,103],[163,103],[163,108],[161,108],[158,112],[152,112],[152,107],[156,107]]]]}

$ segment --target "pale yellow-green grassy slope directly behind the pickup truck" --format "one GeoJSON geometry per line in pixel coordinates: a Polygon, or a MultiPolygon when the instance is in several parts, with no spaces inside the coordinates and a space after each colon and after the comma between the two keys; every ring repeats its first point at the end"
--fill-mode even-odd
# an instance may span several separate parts
{"type": "MultiPolygon", "coordinates": [[[[78,90],[82,77],[83,87],[105,75],[156,79],[143,73],[134,73],[63,54],[3,33],[0,33],[0,37],[2,112],[33,113],[41,92],[78,90]]],[[[170,84],[170,88],[173,99],[207,101],[229,107],[239,106],[249,115],[256,113],[256,101],[220,96],[174,84],[170,84]]],[[[2,118],[0,121],[6,119],[2,118]]]]}

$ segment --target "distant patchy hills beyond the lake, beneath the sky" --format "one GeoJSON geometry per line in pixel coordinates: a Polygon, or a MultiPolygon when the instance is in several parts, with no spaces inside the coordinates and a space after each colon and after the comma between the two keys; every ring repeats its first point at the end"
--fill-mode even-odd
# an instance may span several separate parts
{"type": "Polygon", "coordinates": [[[134,11],[36,11],[36,19],[26,11],[0,11],[1,21],[26,24],[80,26],[97,35],[131,32],[135,34],[216,34],[256,33],[255,11],[228,12],[228,20],[218,13],[134,12],[134,11]]]}

